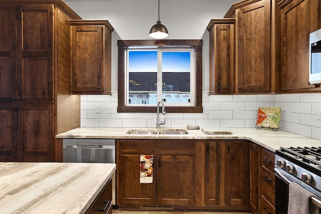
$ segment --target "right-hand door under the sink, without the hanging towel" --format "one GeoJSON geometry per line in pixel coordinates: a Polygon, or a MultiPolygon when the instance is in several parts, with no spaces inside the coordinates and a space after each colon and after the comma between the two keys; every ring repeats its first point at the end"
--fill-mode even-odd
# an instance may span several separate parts
{"type": "Polygon", "coordinates": [[[158,204],[194,205],[194,156],[162,155],[157,174],[158,204]]]}

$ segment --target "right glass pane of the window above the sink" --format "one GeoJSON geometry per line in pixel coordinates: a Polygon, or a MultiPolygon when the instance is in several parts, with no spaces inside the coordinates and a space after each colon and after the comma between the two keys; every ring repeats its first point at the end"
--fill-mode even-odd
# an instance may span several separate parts
{"type": "Polygon", "coordinates": [[[162,99],[167,103],[191,102],[191,53],[162,53],[162,99]]]}

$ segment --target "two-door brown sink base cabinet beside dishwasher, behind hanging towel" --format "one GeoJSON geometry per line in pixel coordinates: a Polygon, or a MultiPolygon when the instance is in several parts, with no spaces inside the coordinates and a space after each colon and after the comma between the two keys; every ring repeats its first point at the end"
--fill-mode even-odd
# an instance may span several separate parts
{"type": "Polygon", "coordinates": [[[116,148],[120,208],[195,205],[193,140],[117,140],[116,148]],[[139,182],[140,154],[154,155],[152,183],[139,182]]]}

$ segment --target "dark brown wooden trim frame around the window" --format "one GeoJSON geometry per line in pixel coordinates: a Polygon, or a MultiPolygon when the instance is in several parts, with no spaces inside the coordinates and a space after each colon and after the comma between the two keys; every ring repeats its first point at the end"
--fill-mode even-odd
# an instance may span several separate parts
{"type": "Polygon", "coordinates": [[[203,40],[118,40],[118,113],[154,113],[156,106],[126,106],[125,102],[125,49],[127,47],[177,47],[195,50],[195,105],[166,106],[168,113],[203,113],[202,106],[202,46],[203,40]]]}

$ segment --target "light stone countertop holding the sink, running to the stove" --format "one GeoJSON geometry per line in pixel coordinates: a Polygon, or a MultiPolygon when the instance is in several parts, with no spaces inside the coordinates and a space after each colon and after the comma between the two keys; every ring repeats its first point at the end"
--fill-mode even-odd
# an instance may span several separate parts
{"type": "MultiPolygon", "coordinates": [[[[148,130],[154,128],[103,128],[103,127],[80,127],[56,135],[57,138],[96,138],[96,139],[245,139],[250,140],[273,152],[280,146],[321,146],[321,140],[293,134],[287,131],[272,131],[269,128],[201,128],[188,130],[189,134],[183,135],[143,135],[126,134],[128,130],[148,130]],[[202,130],[204,129],[204,131],[202,130]],[[206,134],[207,133],[226,133],[232,134],[206,134]]],[[[169,128],[161,128],[169,129],[169,128]]],[[[186,129],[186,128],[173,128],[186,129]]]]}

